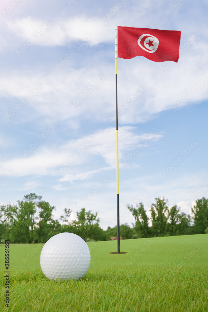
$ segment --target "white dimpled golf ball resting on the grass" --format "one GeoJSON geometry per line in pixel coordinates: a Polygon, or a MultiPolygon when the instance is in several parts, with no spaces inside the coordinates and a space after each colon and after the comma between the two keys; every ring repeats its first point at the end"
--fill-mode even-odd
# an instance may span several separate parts
{"type": "Polygon", "coordinates": [[[40,263],[50,280],[79,280],[89,269],[89,247],[76,234],[56,234],[43,246],[40,263]]]}

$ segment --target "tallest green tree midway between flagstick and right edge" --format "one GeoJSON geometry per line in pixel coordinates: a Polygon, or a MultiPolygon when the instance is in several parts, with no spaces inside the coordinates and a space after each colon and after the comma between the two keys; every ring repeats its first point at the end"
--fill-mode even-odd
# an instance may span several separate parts
{"type": "Polygon", "coordinates": [[[154,236],[166,235],[166,224],[168,218],[167,202],[164,198],[155,198],[156,203],[151,205],[152,234],[154,236]]]}

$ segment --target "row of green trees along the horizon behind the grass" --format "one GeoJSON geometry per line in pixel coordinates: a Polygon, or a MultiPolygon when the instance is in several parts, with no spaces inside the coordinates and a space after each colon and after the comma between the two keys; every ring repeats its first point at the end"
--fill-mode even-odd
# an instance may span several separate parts
{"type": "MultiPolygon", "coordinates": [[[[45,243],[62,232],[75,233],[85,241],[106,241],[117,236],[117,226],[108,227],[106,231],[99,226],[97,212],[82,208],[76,212],[76,219],[69,222],[71,210],[65,208],[63,215],[54,219],[56,208],[41,199],[31,193],[17,204],[0,206],[0,242],[9,239],[11,243],[45,243]]],[[[160,197],[151,205],[150,218],[142,202],[136,206],[127,205],[127,208],[135,224],[132,223],[132,227],[127,223],[120,225],[123,239],[208,233],[208,199],[205,197],[196,200],[191,208],[192,216],[181,212],[177,205],[168,207],[167,200],[160,197]]]]}

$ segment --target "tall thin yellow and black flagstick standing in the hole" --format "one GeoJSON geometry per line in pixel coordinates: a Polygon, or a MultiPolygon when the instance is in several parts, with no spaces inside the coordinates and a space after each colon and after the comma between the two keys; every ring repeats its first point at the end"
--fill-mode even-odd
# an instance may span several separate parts
{"type": "MultiPolygon", "coordinates": [[[[117,46],[117,26],[115,26],[115,50],[117,46]]],[[[120,221],[119,221],[119,139],[118,139],[118,97],[117,97],[117,55],[115,52],[116,65],[116,180],[117,180],[117,249],[120,255],[120,221]]]]}

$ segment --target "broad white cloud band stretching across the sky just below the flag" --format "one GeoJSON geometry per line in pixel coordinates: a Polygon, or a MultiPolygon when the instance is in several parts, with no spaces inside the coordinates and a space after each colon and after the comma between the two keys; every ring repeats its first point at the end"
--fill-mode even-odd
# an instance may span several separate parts
{"type": "MultiPolygon", "coordinates": [[[[119,123],[146,122],[177,105],[183,107],[206,100],[206,69],[206,46],[196,41],[181,54],[178,63],[156,63],[142,57],[119,59],[119,123]],[[124,107],[125,104],[128,107],[124,107]]],[[[54,64],[49,73],[41,70],[7,72],[1,87],[2,96],[17,97],[17,101],[27,103],[29,93],[28,105],[40,116],[57,121],[80,116],[97,122],[112,122],[115,117],[113,71],[103,59],[99,65],[95,63],[90,68],[77,70],[67,64],[56,70],[54,64]]]]}

